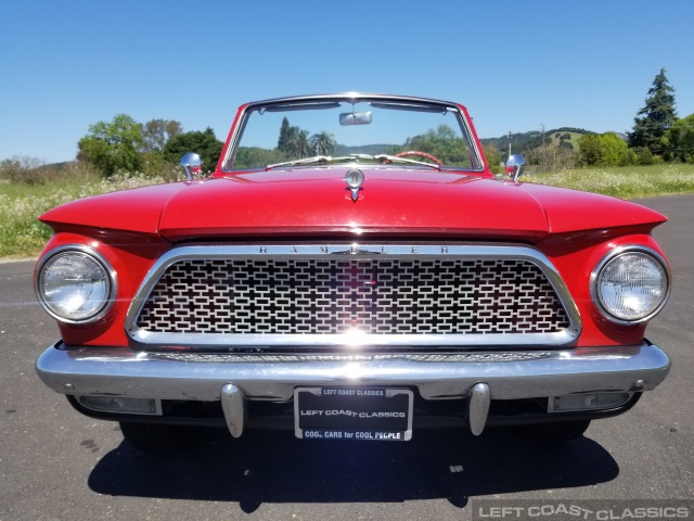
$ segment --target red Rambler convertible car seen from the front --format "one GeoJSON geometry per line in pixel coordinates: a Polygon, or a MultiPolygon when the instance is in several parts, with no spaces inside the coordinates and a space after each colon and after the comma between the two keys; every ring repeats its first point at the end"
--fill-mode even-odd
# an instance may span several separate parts
{"type": "Polygon", "coordinates": [[[644,338],[670,289],[665,217],[520,182],[520,156],[497,178],[460,104],[249,103],[209,176],[182,165],[40,217],[36,293],[62,338],[38,373],[137,448],[196,425],[563,442],[668,373],[644,338]]]}

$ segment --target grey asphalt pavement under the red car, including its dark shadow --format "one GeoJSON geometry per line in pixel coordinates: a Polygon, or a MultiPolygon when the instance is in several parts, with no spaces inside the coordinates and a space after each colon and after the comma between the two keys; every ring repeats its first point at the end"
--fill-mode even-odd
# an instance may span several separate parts
{"type": "MultiPolygon", "coordinates": [[[[641,201],[674,272],[647,336],[672,358],[634,409],[557,447],[500,431],[419,431],[408,443],[300,441],[287,431],[206,432],[174,456],[138,453],[38,379],[59,336],[33,262],[0,264],[0,521],[471,519],[476,498],[694,498],[694,196],[641,201]]],[[[693,513],[694,516],[694,513],[693,513]]]]}

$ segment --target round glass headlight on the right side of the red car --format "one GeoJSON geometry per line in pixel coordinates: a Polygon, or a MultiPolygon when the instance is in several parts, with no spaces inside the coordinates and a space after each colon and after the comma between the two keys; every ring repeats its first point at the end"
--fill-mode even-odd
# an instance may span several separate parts
{"type": "Polygon", "coordinates": [[[619,247],[599,264],[591,291],[597,308],[611,320],[638,323],[653,318],[670,293],[665,259],[645,246],[619,247]]]}

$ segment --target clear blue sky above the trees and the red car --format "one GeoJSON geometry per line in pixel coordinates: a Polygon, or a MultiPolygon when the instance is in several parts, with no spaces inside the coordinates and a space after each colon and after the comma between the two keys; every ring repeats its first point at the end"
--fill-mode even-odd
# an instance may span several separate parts
{"type": "Polygon", "coordinates": [[[694,113],[693,0],[0,0],[0,161],[69,161],[126,113],[226,139],[235,109],[364,91],[463,103],[481,138],[626,131],[667,69],[694,113]]]}

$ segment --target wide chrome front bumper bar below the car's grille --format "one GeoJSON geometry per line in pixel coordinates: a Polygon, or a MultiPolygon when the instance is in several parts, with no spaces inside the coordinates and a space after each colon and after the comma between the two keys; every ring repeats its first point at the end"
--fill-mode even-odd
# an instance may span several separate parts
{"type": "Polygon", "coordinates": [[[296,386],[413,386],[425,399],[468,396],[480,382],[491,399],[656,387],[670,369],[657,346],[460,354],[234,355],[70,348],[38,359],[53,391],[73,395],[220,401],[233,384],[246,399],[290,401],[296,386]]]}

